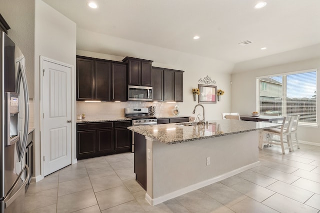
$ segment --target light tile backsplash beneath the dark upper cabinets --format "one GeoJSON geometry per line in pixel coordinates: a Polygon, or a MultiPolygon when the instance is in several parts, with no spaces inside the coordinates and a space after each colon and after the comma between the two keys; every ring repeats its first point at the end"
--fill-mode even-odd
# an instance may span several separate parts
{"type": "Polygon", "coordinates": [[[127,101],[127,102],[100,102],[88,103],[83,101],[76,102],[76,114],[84,113],[86,116],[110,116],[110,117],[123,117],[124,108],[134,107],[155,107],[155,115],[168,116],[173,115],[173,108],[178,103],[163,103],[163,102],[143,102],[143,101],[127,101]]]}

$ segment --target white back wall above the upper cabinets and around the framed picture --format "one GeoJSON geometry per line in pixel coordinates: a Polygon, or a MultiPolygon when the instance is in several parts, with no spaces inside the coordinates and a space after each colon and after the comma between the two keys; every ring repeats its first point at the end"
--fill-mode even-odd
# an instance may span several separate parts
{"type": "MultiPolygon", "coordinates": [[[[220,102],[203,104],[205,120],[221,119],[222,112],[230,111],[229,82],[230,72],[233,68],[232,63],[107,36],[81,28],[77,28],[77,54],[115,61],[121,61],[125,56],[130,56],[153,60],[152,66],[184,70],[183,103],[176,103],[180,107],[181,115],[192,115],[197,101],[193,101],[191,90],[198,87],[200,78],[208,75],[212,80],[216,81],[217,88],[224,90],[225,93],[220,102]],[[98,40],[104,40],[105,43],[98,43],[98,40]],[[99,46],[102,53],[106,51],[106,48],[110,52],[109,48],[111,48],[114,55],[90,52],[87,48],[88,46],[99,46]]],[[[197,113],[202,115],[200,107],[197,108],[195,115],[197,113]]]]}

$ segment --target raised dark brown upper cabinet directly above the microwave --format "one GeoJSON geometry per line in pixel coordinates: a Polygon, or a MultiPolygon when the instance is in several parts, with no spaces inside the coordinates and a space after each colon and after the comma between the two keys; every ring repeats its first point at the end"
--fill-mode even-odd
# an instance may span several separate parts
{"type": "Polygon", "coordinates": [[[128,85],[152,86],[152,62],[150,60],[125,57],[128,64],[128,85]]]}

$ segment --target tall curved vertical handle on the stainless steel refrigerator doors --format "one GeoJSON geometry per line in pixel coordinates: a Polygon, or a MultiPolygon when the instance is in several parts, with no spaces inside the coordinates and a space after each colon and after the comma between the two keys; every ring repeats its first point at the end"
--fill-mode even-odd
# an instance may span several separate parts
{"type": "Polygon", "coordinates": [[[29,124],[29,95],[28,95],[28,87],[26,84],[26,77],[23,70],[23,66],[21,63],[19,63],[18,66],[18,74],[17,74],[17,84],[15,91],[18,93],[20,88],[20,83],[22,79],[22,85],[23,85],[23,93],[24,93],[24,130],[23,130],[23,138],[22,138],[22,145],[20,150],[20,156],[19,161],[21,161],[24,151],[26,148],[26,141],[27,141],[27,135],[28,135],[28,124],[29,124]]]}

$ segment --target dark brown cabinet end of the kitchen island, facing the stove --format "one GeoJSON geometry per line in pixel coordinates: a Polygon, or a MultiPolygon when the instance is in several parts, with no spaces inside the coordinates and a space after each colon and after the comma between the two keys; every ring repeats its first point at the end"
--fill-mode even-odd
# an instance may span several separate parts
{"type": "Polygon", "coordinates": [[[146,191],[146,139],[134,133],[134,173],[135,180],[146,191]]]}

